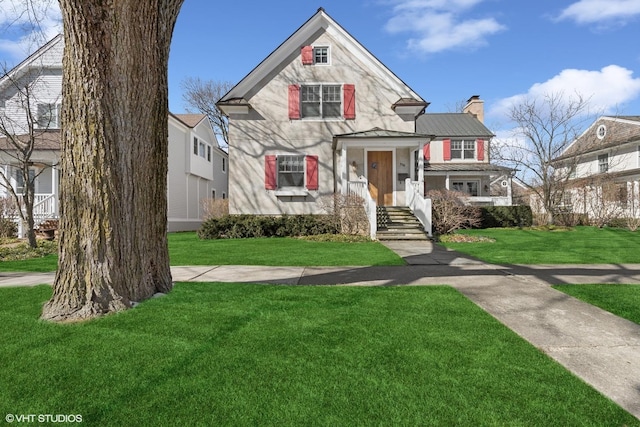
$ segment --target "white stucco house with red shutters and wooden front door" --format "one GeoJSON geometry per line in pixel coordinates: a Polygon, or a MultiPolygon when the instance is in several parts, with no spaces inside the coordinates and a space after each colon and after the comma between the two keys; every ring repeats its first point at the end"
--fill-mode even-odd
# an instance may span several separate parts
{"type": "Polygon", "coordinates": [[[320,8],[217,104],[229,118],[230,212],[321,214],[323,197],[356,194],[372,226],[377,207],[409,206],[430,232],[425,183],[490,195],[493,135],[471,112],[476,98],[425,119],[428,102],[320,8]]]}

